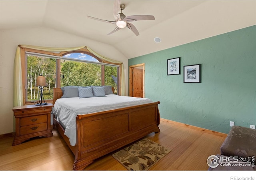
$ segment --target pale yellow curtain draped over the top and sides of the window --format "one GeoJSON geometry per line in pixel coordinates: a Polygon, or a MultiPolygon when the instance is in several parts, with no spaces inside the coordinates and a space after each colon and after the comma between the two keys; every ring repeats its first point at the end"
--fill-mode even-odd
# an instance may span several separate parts
{"type": "Polygon", "coordinates": [[[125,82],[124,82],[124,66],[122,62],[112,60],[110,58],[104,57],[86,46],[79,46],[73,48],[51,48],[51,47],[41,47],[41,46],[30,46],[30,45],[18,45],[15,59],[14,59],[14,106],[23,105],[23,87],[22,87],[22,69],[21,69],[21,53],[20,48],[30,48],[34,50],[43,50],[48,52],[63,52],[63,51],[74,51],[82,48],[88,49],[92,54],[104,60],[104,62],[120,64],[121,67],[121,95],[125,96],[125,82]]]}

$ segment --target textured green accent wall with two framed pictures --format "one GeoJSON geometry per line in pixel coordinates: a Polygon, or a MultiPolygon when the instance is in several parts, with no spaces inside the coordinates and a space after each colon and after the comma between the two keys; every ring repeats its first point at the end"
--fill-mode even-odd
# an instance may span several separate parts
{"type": "Polygon", "coordinates": [[[256,125],[256,25],[131,58],[145,63],[145,96],[160,101],[160,117],[228,133],[256,125]],[[180,75],[167,59],[180,57],[180,75]],[[201,64],[201,83],[183,83],[183,66],[201,64]]]}

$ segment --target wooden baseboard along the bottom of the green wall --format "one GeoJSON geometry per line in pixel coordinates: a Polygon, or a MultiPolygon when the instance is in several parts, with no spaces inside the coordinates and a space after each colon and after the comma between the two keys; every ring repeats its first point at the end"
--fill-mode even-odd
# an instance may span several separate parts
{"type": "Polygon", "coordinates": [[[192,126],[192,125],[189,125],[189,124],[184,124],[182,122],[176,122],[176,121],[168,120],[168,119],[164,119],[164,118],[160,118],[160,121],[171,123],[171,124],[176,124],[176,125],[179,125],[179,126],[186,126],[188,128],[192,128],[194,130],[199,130],[199,131],[202,131],[202,132],[206,132],[208,134],[214,134],[216,136],[220,136],[220,137],[223,137],[223,138],[226,138],[227,135],[228,135],[228,134],[225,134],[225,133],[222,133],[222,132],[217,132],[217,131],[213,131],[213,130],[209,130],[209,129],[205,129],[205,128],[200,128],[200,127],[197,127],[197,126],[192,126]]]}

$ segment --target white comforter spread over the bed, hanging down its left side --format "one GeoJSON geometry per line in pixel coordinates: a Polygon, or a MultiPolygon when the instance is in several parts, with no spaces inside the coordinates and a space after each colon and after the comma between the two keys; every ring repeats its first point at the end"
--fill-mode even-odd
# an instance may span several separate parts
{"type": "Polygon", "coordinates": [[[92,98],[60,98],[54,103],[52,114],[66,127],[65,135],[68,136],[70,145],[76,145],[76,116],[151,103],[147,98],[135,98],[130,96],[118,96],[109,94],[105,97],[92,98]]]}

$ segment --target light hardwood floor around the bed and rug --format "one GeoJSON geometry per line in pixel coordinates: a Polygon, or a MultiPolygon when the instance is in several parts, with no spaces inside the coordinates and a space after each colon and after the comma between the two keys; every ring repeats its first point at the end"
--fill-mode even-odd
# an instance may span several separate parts
{"type": "MultiPolygon", "coordinates": [[[[160,133],[146,138],[172,151],[150,170],[208,170],[206,160],[219,154],[225,134],[207,133],[172,121],[161,120],[160,133]]],[[[0,170],[72,170],[74,155],[58,134],[49,138],[33,138],[12,146],[13,137],[0,139],[0,170]]],[[[114,152],[113,152],[114,153],[114,152]]],[[[126,170],[112,154],[103,156],[85,170],[126,170]]]]}

